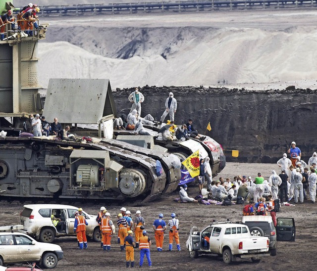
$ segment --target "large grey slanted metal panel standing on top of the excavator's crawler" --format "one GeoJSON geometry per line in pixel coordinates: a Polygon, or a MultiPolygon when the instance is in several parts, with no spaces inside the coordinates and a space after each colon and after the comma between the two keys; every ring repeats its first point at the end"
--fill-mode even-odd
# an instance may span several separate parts
{"type": "Polygon", "coordinates": [[[60,123],[98,123],[115,114],[108,79],[50,79],[43,115],[60,123]]]}

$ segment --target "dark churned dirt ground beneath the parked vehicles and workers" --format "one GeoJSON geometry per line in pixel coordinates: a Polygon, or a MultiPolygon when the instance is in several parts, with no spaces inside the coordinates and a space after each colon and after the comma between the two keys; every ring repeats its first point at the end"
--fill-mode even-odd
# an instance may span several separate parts
{"type": "MultiPolygon", "coordinates": [[[[264,178],[268,178],[271,170],[277,170],[276,164],[243,164],[243,163],[227,163],[226,168],[219,175],[224,178],[233,179],[235,175],[252,176],[253,178],[260,171],[264,178]]],[[[218,178],[218,177],[216,177],[218,178]]],[[[188,194],[195,196],[198,187],[190,186],[188,194]]],[[[177,203],[173,199],[178,197],[178,192],[167,195],[155,202],[146,203],[144,205],[134,206],[133,204],[124,204],[127,210],[130,210],[135,217],[135,212],[140,210],[145,218],[146,229],[153,241],[151,247],[151,260],[153,262],[153,270],[228,270],[228,266],[223,263],[221,258],[217,256],[202,255],[198,259],[189,257],[189,253],[185,247],[191,226],[199,226],[203,228],[212,220],[225,221],[227,218],[232,222],[239,221],[242,216],[242,206],[221,206],[221,205],[200,205],[192,203],[177,203]],[[180,221],[180,244],[181,252],[167,252],[168,249],[168,233],[165,235],[163,244],[163,252],[157,252],[155,246],[154,232],[152,223],[158,218],[159,213],[164,214],[167,221],[170,214],[175,212],[180,221]]],[[[30,202],[19,201],[0,201],[0,217],[2,225],[17,224],[19,222],[19,214],[23,209],[23,205],[30,202]]],[[[41,202],[41,203],[44,203],[41,202]]],[[[49,203],[49,202],[45,202],[49,203]]],[[[50,202],[53,203],[53,202],[50,202]]],[[[68,203],[77,207],[83,207],[90,214],[97,214],[100,204],[84,203],[79,201],[59,202],[68,203]]],[[[123,204],[118,202],[105,202],[107,210],[110,212],[113,221],[119,213],[119,209],[123,204]]],[[[231,269],[254,271],[254,270],[315,270],[316,268],[316,242],[317,242],[317,204],[304,204],[296,206],[282,206],[281,212],[277,213],[277,217],[293,217],[296,222],[296,241],[295,242],[278,242],[277,256],[265,257],[258,264],[254,264],[251,260],[237,259],[237,263],[230,266],[231,269]]],[[[100,248],[100,243],[88,241],[88,250],[78,251],[77,241],[75,237],[61,237],[54,241],[55,244],[61,246],[64,251],[64,259],[61,260],[56,270],[69,271],[80,269],[102,271],[111,269],[119,271],[125,268],[125,252],[120,252],[120,246],[116,243],[116,236],[112,238],[111,251],[104,252],[100,248]]],[[[175,249],[175,244],[174,244],[175,249]]],[[[139,250],[135,250],[135,266],[138,267],[140,259],[139,250]]],[[[148,269],[147,261],[143,265],[143,269],[148,269]]]]}

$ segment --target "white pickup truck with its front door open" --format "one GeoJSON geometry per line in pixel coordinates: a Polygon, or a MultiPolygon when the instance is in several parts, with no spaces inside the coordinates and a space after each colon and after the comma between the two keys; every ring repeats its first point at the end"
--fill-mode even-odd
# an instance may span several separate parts
{"type": "Polygon", "coordinates": [[[251,236],[248,226],[231,222],[212,223],[202,231],[193,226],[186,241],[190,257],[218,254],[226,264],[235,262],[237,257],[259,263],[262,257],[270,256],[268,245],[267,237],[251,236]]]}

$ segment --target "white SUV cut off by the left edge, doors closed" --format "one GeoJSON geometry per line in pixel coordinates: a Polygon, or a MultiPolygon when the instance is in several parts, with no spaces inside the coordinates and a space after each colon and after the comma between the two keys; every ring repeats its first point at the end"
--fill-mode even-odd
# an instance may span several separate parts
{"type": "Polygon", "coordinates": [[[39,262],[44,268],[54,268],[63,256],[58,245],[37,242],[20,232],[0,232],[0,266],[39,262]]]}

